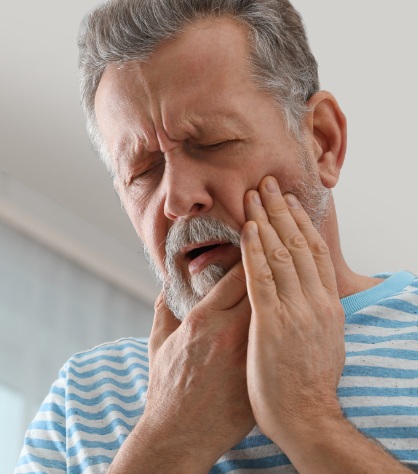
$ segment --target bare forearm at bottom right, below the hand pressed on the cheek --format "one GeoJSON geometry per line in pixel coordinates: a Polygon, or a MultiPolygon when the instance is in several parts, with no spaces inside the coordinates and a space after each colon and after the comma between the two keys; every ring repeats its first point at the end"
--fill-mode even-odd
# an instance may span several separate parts
{"type": "Polygon", "coordinates": [[[291,435],[286,454],[301,474],[407,474],[412,471],[342,415],[291,435]]]}

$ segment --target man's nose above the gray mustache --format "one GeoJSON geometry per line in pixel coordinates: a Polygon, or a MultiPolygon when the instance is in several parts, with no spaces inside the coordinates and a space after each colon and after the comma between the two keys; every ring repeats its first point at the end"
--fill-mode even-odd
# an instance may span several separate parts
{"type": "Polygon", "coordinates": [[[207,213],[213,206],[213,198],[204,162],[184,152],[167,155],[164,170],[166,217],[176,220],[207,213]]]}

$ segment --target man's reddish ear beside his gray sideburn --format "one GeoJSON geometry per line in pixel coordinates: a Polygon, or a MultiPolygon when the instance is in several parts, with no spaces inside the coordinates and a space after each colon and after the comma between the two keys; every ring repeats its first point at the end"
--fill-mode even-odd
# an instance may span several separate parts
{"type": "Polygon", "coordinates": [[[312,142],[322,184],[333,188],[340,176],[347,147],[347,121],[335,97],[326,91],[314,94],[307,104],[306,131],[312,142]]]}

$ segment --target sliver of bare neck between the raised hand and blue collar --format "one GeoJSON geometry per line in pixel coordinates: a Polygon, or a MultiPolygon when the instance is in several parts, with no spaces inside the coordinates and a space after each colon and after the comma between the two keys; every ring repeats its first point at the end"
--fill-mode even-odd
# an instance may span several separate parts
{"type": "Polygon", "coordinates": [[[340,298],[344,298],[360,291],[368,290],[383,280],[355,273],[347,265],[341,251],[337,213],[333,197],[331,197],[329,205],[329,213],[322,224],[320,233],[330,251],[337,279],[338,294],[340,298]]]}

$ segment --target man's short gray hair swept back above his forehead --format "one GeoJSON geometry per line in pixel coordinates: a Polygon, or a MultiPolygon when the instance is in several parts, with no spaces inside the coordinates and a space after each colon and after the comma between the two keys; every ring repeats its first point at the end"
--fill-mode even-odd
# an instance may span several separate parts
{"type": "Polygon", "coordinates": [[[193,21],[222,16],[247,26],[253,80],[272,95],[289,132],[300,138],[306,101],[319,90],[318,65],[302,19],[288,0],[109,0],[83,20],[78,45],[87,130],[110,171],[94,110],[106,67],[146,61],[159,44],[181,34],[193,21]]]}

